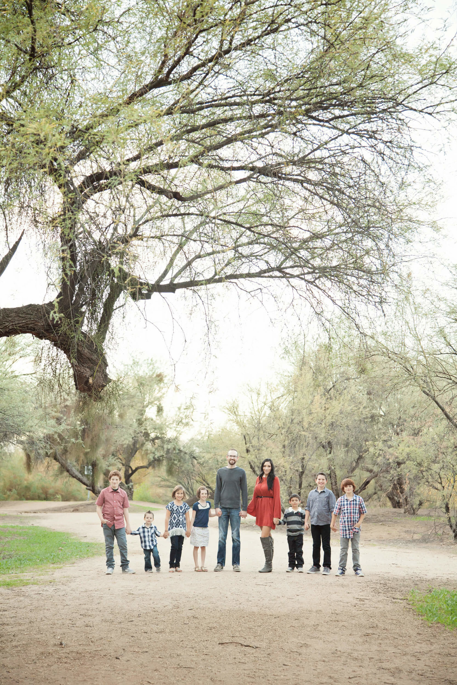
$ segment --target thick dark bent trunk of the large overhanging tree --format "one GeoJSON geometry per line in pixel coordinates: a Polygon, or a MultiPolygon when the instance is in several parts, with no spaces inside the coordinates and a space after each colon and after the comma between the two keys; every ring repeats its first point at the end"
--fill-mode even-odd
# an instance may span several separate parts
{"type": "Polygon", "coordinates": [[[54,321],[54,312],[53,302],[0,309],[0,337],[29,333],[40,340],[49,340],[68,358],[76,389],[96,399],[110,383],[103,350],[84,332],[75,330],[72,336],[66,329],[66,325],[71,325],[69,321],[54,321]]]}

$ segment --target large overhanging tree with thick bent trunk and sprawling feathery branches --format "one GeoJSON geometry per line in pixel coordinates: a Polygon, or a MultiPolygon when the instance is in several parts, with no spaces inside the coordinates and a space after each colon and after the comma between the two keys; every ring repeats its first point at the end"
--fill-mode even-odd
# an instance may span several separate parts
{"type": "Polygon", "coordinates": [[[0,310],[0,336],[50,341],[97,397],[129,298],[280,281],[315,308],[378,303],[410,115],[445,110],[454,79],[439,46],[410,48],[413,5],[4,3],[0,274],[25,231],[49,296],[0,310]]]}

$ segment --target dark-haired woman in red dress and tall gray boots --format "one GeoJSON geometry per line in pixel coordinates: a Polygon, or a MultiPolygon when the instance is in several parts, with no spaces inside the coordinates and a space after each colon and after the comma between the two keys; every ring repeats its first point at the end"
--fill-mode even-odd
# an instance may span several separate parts
{"type": "Polygon", "coordinates": [[[271,459],[264,459],[262,462],[247,513],[256,516],[256,525],[262,530],[260,543],[265,555],[265,565],[259,573],[270,573],[273,570],[273,519],[281,518],[280,479],[275,476],[275,466],[271,459]]]}

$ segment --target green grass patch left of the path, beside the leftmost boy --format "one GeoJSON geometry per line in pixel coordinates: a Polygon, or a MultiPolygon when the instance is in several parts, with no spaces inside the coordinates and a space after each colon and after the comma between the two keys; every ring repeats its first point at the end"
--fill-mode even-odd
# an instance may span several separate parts
{"type": "Polygon", "coordinates": [[[36,578],[21,577],[30,571],[103,553],[100,543],[85,543],[66,533],[40,526],[0,526],[0,586],[36,584],[36,578]]]}

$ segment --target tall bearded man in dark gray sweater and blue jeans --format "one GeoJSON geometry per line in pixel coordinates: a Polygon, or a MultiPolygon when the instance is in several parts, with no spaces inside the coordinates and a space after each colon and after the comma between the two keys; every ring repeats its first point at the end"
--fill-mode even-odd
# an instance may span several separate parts
{"type": "Polygon", "coordinates": [[[236,466],[238,452],[230,449],[227,452],[227,466],[218,469],[216,489],[214,490],[214,509],[219,516],[219,547],[217,564],[214,571],[223,571],[225,566],[225,543],[228,525],[232,530],[232,566],[240,570],[240,517],[247,516],[247,481],[246,471],[236,466]],[[242,506],[240,507],[240,496],[242,506]]]}

